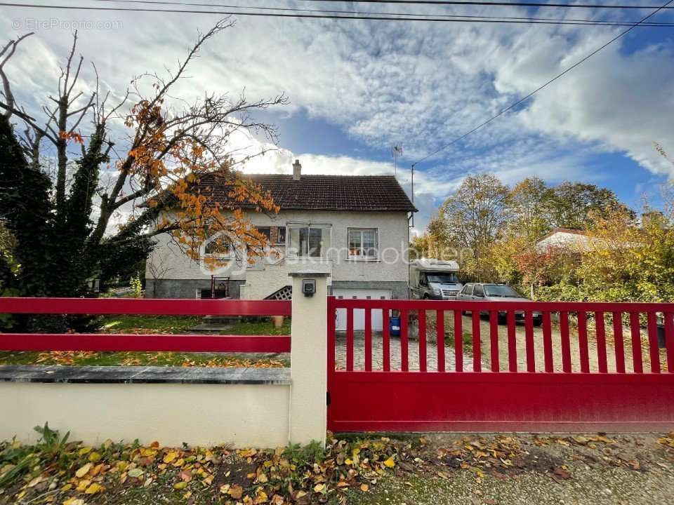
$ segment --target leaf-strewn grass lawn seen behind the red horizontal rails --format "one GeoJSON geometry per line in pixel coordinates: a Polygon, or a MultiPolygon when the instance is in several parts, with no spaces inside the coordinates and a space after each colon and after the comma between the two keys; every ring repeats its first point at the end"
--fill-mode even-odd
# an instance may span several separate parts
{"type": "MultiPolygon", "coordinates": [[[[100,333],[131,334],[189,334],[190,328],[203,320],[192,316],[102,316],[100,333]]],[[[270,321],[242,321],[232,325],[224,335],[290,335],[290,321],[282,328],[274,328],[270,321]]],[[[178,352],[84,352],[84,351],[4,351],[0,365],[152,365],[152,366],[206,366],[283,368],[289,361],[283,356],[256,356],[253,354],[195,354],[178,352]]]]}

